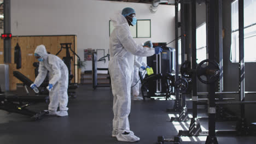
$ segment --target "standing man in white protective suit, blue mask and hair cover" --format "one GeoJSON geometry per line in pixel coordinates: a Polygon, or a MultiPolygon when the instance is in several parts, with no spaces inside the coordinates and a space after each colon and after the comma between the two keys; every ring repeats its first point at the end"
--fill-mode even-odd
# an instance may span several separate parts
{"type": "Polygon", "coordinates": [[[109,38],[110,61],[108,65],[113,93],[113,131],[118,141],[135,142],[139,137],[130,130],[128,116],[131,110],[131,83],[134,55],[152,56],[161,48],[153,49],[136,44],[129,26],[136,25],[135,10],[124,8],[110,19],[114,29],[109,38]]]}

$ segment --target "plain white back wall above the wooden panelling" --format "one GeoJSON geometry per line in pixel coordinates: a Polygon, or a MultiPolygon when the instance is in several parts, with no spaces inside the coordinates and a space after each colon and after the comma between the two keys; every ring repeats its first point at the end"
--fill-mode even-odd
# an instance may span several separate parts
{"type": "MultiPolygon", "coordinates": [[[[174,39],[174,6],[160,5],[155,14],[150,4],[97,0],[12,0],[11,32],[13,35],[77,35],[77,52],[84,59],[84,49],[109,49],[109,17],[125,7],[136,10],[137,19],[151,19],[152,38],[137,38],[166,42],[174,39]],[[18,23],[18,27],[17,24],[18,23]]],[[[174,43],[168,45],[174,47],[174,43]]],[[[108,62],[98,62],[107,68],[108,62]]],[[[91,61],[86,62],[91,70],[91,61]]]]}

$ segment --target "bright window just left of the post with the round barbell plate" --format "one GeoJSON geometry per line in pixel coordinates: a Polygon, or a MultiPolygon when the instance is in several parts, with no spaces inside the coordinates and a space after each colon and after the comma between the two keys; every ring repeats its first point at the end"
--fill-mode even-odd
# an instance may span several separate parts
{"type": "Polygon", "coordinates": [[[206,23],[196,28],[196,63],[206,59],[206,23]]]}

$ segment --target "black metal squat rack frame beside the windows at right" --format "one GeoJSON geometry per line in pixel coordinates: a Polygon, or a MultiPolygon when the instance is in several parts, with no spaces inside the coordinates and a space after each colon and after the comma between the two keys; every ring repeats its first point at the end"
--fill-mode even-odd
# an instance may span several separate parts
{"type": "MultiPolygon", "coordinates": [[[[179,1],[176,1],[176,5],[179,1]]],[[[181,0],[181,2],[184,2],[181,0]]],[[[196,69],[196,1],[191,1],[191,17],[192,17],[192,66],[193,70],[196,69]]],[[[248,127],[246,125],[245,118],[245,104],[256,104],[256,101],[245,101],[245,94],[255,94],[256,92],[245,92],[245,62],[244,62],[244,39],[243,39],[243,0],[238,0],[238,12],[239,12],[239,51],[240,51],[240,63],[239,63],[239,91],[238,92],[223,92],[223,38],[222,38],[222,0],[210,1],[206,0],[206,12],[207,12],[207,44],[208,44],[208,53],[210,61],[215,61],[215,52],[218,47],[219,49],[219,66],[220,66],[220,81],[219,81],[219,92],[216,92],[215,83],[212,83],[208,89],[209,92],[200,92],[197,93],[196,88],[196,74],[193,74],[193,119],[191,119],[189,131],[189,136],[196,135],[208,135],[206,143],[218,143],[216,135],[247,135],[248,127]],[[218,22],[218,24],[216,24],[218,22]],[[218,26],[218,29],[217,29],[218,26]],[[216,33],[218,30],[218,35],[216,33]],[[218,44],[218,45],[217,45],[218,44]],[[207,133],[201,131],[199,119],[197,119],[197,102],[198,95],[208,94],[209,104],[208,113],[209,113],[209,131],[207,133]],[[239,94],[240,101],[215,101],[216,94],[239,94]],[[218,130],[215,128],[215,115],[216,115],[216,105],[223,104],[240,104],[241,106],[241,119],[237,123],[236,130],[218,130]],[[195,127],[196,126],[196,127],[195,127]],[[197,128],[197,129],[196,129],[197,128]],[[194,133],[196,132],[196,133],[194,133]]],[[[176,6],[177,7],[177,6],[176,6]]],[[[177,9],[176,9],[177,10],[177,9]]],[[[177,14],[177,13],[176,13],[177,14]]],[[[176,19],[177,20],[177,19],[176,19]]],[[[177,21],[176,21],[177,22],[177,21]]],[[[177,27],[176,27],[177,28],[177,27]]],[[[176,29],[177,30],[177,29],[176,29]]],[[[176,35],[177,36],[177,35],[176,35]]],[[[177,44],[177,43],[176,43],[177,44]]],[[[177,46],[176,46],[176,49],[177,46]]],[[[178,53],[178,52],[177,52],[178,53]]],[[[177,55],[176,55],[177,56],[177,55]]],[[[176,57],[177,59],[177,57],[176,57]]],[[[177,63],[176,63],[177,64],[177,63]]],[[[176,65],[177,67],[177,65],[176,65]]],[[[176,95],[177,98],[177,95],[176,95]]],[[[185,132],[185,131],[184,131],[185,132]]]]}

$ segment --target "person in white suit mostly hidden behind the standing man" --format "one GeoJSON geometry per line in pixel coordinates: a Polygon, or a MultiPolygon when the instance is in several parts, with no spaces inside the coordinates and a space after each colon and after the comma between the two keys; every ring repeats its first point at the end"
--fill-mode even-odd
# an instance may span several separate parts
{"type": "MultiPolygon", "coordinates": [[[[144,46],[152,48],[153,44],[149,40],[149,41],[146,41],[146,43],[144,43],[144,46]]],[[[143,62],[143,57],[135,56],[135,58],[134,58],[133,80],[132,80],[132,87],[131,87],[133,100],[143,100],[142,97],[139,97],[141,81],[139,80],[139,74],[138,73],[139,73],[139,71],[146,70],[146,68],[149,68],[149,67],[147,66],[147,64],[145,62],[143,62]]]]}

